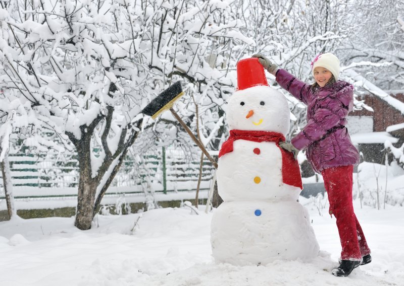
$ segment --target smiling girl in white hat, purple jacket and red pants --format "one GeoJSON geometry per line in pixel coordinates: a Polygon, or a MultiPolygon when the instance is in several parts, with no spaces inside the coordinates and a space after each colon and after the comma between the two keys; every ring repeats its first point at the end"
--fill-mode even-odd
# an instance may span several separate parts
{"type": "Polygon", "coordinates": [[[312,62],[315,83],[296,79],[278,68],[263,55],[260,63],[276,77],[278,84],[295,98],[307,104],[307,125],[290,143],[280,146],[297,153],[307,148],[307,160],[321,173],[330,202],[329,213],[336,218],[342,251],[335,276],[347,276],[359,265],[372,261],[362,228],[352,205],[352,172],[359,163],[359,153],[352,145],[345,127],[346,116],[353,107],[354,87],[338,81],[339,59],[332,53],[318,55],[312,62]]]}

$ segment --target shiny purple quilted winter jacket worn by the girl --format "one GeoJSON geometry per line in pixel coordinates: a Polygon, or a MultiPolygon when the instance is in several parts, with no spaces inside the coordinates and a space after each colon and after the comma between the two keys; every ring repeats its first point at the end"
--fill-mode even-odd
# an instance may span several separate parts
{"type": "Polygon", "coordinates": [[[322,170],[359,163],[359,153],[345,127],[346,116],[354,106],[354,87],[344,81],[313,90],[294,76],[279,69],[276,81],[307,105],[307,124],[293,139],[299,150],[307,148],[313,169],[322,170]]]}

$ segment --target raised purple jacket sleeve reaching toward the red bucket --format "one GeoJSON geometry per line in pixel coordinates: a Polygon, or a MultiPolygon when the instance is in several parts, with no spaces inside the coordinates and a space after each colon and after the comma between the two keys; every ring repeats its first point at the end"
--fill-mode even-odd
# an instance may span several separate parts
{"type": "Polygon", "coordinates": [[[276,72],[276,82],[285,90],[290,92],[298,100],[307,104],[310,85],[306,84],[293,75],[286,72],[285,69],[278,69],[276,72]]]}

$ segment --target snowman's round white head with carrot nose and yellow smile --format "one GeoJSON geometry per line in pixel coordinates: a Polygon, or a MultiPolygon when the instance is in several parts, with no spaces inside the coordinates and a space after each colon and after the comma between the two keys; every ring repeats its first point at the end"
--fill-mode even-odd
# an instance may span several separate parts
{"type": "Polygon", "coordinates": [[[260,130],[286,135],[290,111],[285,96],[269,86],[255,86],[236,91],[228,100],[229,128],[260,130]]]}

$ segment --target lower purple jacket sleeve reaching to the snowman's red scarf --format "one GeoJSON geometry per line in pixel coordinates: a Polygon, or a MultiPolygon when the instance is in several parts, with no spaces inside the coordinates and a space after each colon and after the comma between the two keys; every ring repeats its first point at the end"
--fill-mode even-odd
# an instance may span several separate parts
{"type": "Polygon", "coordinates": [[[327,131],[337,125],[348,114],[348,109],[337,98],[327,96],[319,101],[319,107],[306,126],[293,139],[292,145],[305,149],[314,141],[323,138],[327,131]]]}

